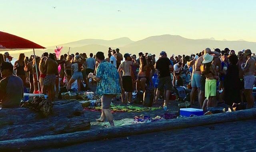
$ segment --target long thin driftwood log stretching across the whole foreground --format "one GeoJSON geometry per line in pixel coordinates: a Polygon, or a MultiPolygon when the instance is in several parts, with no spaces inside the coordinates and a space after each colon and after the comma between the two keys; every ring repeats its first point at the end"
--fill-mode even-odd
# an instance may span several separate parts
{"type": "Polygon", "coordinates": [[[256,108],[191,118],[162,120],[146,124],[132,124],[121,127],[94,129],[68,134],[6,140],[0,142],[0,151],[32,150],[36,148],[61,147],[82,142],[102,140],[106,138],[116,138],[134,134],[144,134],[150,132],[159,132],[164,130],[188,128],[194,126],[202,126],[222,122],[233,122],[255,118],[256,108]]]}

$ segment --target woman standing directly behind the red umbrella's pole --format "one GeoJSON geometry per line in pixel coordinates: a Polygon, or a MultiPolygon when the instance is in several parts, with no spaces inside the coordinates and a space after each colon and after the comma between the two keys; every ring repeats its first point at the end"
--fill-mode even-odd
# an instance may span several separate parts
{"type": "MultiPolygon", "coordinates": [[[[33,65],[32,65],[32,70],[33,70],[33,79],[34,79],[34,93],[38,92],[40,93],[41,86],[39,84],[39,89],[38,90],[38,83],[37,83],[37,76],[36,76],[36,68],[37,70],[39,69],[39,64],[40,64],[40,57],[36,56],[36,58],[33,58],[33,65]]],[[[38,78],[40,78],[40,72],[38,71],[38,78]]]]}

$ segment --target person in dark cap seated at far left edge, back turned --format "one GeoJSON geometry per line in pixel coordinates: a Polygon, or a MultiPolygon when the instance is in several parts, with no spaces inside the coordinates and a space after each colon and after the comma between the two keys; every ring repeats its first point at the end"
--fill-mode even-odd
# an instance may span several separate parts
{"type": "Polygon", "coordinates": [[[13,66],[9,62],[3,62],[0,68],[2,79],[0,81],[0,107],[19,108],[23,98],[23,81],[13,75],[13,66]]]}

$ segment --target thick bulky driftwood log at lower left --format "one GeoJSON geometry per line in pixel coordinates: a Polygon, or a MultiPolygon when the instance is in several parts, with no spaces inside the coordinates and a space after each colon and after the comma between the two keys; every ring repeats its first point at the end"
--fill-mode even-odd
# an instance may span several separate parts
{"type": "Polygon", "coordinates": [[[54,102],[52,114],[44,117],[28,108],[0,110],[0,140],[65,134],[90,129],[80,102],[54,102]]]}

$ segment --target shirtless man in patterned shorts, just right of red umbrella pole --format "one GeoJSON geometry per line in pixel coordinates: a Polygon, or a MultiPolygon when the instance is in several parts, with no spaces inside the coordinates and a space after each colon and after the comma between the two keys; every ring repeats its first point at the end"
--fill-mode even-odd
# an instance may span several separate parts
{"type": "Polygon", "coordinates": [[[48,91],[49,99],[54,101],[54,86],[56,81],[56,73],[58,72],[58,64],[55,61],[54,54],[50,53],[45,61],[44,68],[46,69],[46,77],[44,78],[43,94],[48,91]],[[44,89],[46,87],[46,89],[44,89]]]}

